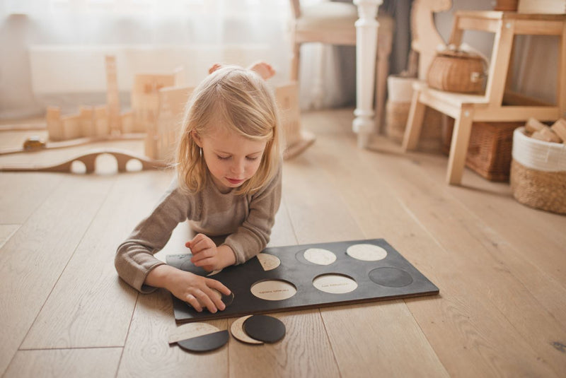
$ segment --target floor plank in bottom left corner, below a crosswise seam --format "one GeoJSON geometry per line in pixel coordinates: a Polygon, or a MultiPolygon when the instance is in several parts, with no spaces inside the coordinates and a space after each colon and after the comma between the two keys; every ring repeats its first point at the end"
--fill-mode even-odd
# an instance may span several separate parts
{"type": "Polygon", "coordinates": [[[5,378],[114,377],[122,348],[20,350],[5,378]]]}

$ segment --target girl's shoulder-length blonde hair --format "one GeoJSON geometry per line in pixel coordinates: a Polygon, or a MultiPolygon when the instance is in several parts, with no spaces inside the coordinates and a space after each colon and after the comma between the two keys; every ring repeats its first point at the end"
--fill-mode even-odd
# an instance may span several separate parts
{"type": "Polygon", "coordinates": [[[252,141],[267,141],[258,171],[236,190],[236,194],[255,193],[270,182],[281,159],[279,114],[272,91],[257,73],[236,66],[214,71],[195,88],[177,148],[178,181],[190,193],[204,189],[210,175],[192,132],[206,136],[214,127],[213,119],[221,119],[221,126],[252,141]]]}

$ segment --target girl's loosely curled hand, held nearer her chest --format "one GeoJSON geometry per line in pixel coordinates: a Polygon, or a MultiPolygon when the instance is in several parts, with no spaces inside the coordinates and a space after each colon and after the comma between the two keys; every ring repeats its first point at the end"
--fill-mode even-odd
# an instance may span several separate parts
{"type": "Polygon", "coordinates": [[[198,234],[192,240],[185,243],[190,248],[192,258],[190,261],[195,266],[201,266],[206,271],[217,271],[236,263],[236,256],[230,247],[216,244],[204,234],[198,234]]]}

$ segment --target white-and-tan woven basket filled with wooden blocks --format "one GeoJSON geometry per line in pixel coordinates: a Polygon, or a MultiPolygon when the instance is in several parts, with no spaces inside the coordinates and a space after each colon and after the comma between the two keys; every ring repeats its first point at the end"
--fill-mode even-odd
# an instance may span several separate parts
{"type": "Polygon", "coordinates": [[[566,146],[513,134],[511,189],[526,206],[566,214],[566,146]]]}

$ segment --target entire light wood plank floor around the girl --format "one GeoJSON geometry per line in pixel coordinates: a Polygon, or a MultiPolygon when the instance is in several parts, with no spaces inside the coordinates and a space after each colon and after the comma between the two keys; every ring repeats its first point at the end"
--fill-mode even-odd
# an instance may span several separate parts
{"type": "MultiPolygon", "coordinates": [[[[113,266],[118,244],[172,172],[0,173],[0,373],[5,377],[564,377],[566,216],[517,203],[507,184],[446,157],[358,150],[352,110],[306,113],[317,140],[284,165],[270,245],[385,238],[440,294],[274,314],[272,345],[206,354],[170,347],[171,297],[139,295],[113,266]],[[562,372],[562,373],[560,373],[562,372]]],[[[37,132],[0,134],[0,148],[37,132]]],[[[108,143],[142,153],[141,141],[108,143]]],[[[100,146],[98,146],[100,147],[100,146]]],[[[0,156],[57,163],[68,150],[0,156]]],[[[112,163],[114,165],[112,166],[112,163]]],[[[159,252],[183,253],[186,226],[159,252]]],[[[234,319],[212,321],[226,329],[234,319]]]]}

